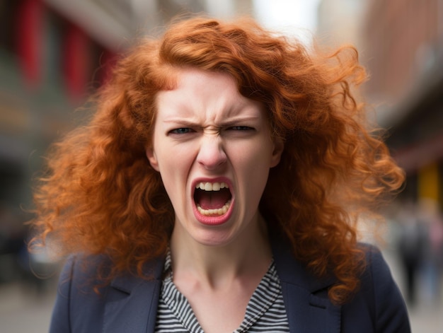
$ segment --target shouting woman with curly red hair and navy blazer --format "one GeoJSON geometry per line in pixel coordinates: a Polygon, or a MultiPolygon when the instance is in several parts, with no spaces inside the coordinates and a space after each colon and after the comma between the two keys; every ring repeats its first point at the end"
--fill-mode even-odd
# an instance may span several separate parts
{"type": "Polygon", "coordinates": [[[35,195],[41,237],[75,254],[51,332],[409,332],[357,243],[403,182],[351,93],[364,78],[355,49],[250,20],[140,42],[35,195]]]}

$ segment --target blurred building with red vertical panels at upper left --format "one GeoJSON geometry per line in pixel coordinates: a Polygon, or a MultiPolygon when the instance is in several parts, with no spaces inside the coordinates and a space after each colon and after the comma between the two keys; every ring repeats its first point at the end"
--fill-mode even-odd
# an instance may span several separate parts
{"type": "Polygon", "coordinates": [[[205,12],[253,15],[252,0],[0,1],[0,271],[2,255],[23,247],[21,206],[30,208],[42,156],[87,117],[90,110],[74,110],[105,81],[115,55],[173,16],[205,12]]]}

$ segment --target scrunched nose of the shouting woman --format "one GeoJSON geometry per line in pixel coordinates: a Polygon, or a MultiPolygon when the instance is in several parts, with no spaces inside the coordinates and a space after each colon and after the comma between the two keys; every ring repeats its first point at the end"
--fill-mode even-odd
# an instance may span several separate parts
{"type": "Polygon", "coordinates": [[[200,150],[197,162],[207,170],[216,170],[226,163],[222,139],[217,135],[203,136],[200,141],[200,150]]]}

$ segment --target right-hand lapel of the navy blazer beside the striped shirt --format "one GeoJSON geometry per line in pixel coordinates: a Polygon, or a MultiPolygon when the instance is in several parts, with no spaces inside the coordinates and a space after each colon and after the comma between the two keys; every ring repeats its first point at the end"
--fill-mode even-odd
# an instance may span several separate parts
{"type": "Polygon", "coordinates": [[[335,280],[318,279],[294,258],[289,244],[272,240],[275,267],[282,284],[284,307],[292,333],[340,332],[340,306],[328,299],[335,280]]]}

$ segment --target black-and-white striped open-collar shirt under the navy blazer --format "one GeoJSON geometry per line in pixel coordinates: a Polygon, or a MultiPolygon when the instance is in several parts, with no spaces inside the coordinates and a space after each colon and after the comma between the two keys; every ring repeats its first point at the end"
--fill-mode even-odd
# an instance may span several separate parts
{"type": "MultiPolygon", "coordinates": [[[[173,283],[170,253],[164,271],[155,332],[204,333],[190,303],[173,283]]],[[[241,332],[289,332],[282,287],[273,261],[249,300],[243,322],[233,333],[241,332]]]]}

